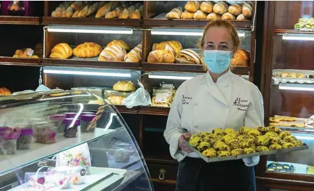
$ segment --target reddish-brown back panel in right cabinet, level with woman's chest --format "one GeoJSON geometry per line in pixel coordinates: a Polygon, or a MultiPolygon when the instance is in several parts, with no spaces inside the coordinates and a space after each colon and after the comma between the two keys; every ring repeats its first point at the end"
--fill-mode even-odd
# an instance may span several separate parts
{"type": "Polygon", "coordinates": [[[314,114],[314,92],[280,90],[272,85],[271,115],[309,118],[314,114]]]}

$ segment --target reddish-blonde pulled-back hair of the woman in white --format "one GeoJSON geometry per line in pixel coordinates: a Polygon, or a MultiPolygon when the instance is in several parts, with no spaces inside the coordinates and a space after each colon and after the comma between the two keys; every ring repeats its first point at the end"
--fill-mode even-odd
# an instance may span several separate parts
{"type": "Polygon", "coordinates": [[[201,49],[204,49],[205,34],[207,33],[208,29],[211,29],[211,28],[227,29],[228,32],[230,33],[231,40],[233,40],[233,45],[234,45],[235,49],[239,49],[240,38],[237,35],[237,30],[235,30],[235,26],[233,26],[233,24],[231,24],[230,22],[225,21],[225,20],[214,20],[214,21],[206,24],[206,26],[204,28],[203,36],[201,38],[201,42],[199,45],[201,49]]]}

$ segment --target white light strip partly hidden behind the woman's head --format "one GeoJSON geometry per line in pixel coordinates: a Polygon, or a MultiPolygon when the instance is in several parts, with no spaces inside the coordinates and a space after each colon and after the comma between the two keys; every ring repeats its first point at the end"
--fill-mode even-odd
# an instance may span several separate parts
{"type": "MultiPolygon", "coordinates": [[[[172,29],[172,28],[152,28],[152,35],[169,36],[203,36],[203,29],[172,29]]],[[[244,37],[244,31],[237,31],[239,37],[244,37]]]]}

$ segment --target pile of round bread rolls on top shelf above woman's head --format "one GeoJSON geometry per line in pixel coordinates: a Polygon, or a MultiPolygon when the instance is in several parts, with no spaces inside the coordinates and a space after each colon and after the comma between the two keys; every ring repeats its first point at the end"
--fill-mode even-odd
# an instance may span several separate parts
{"type": "Polygon", "coordinates": [[[213,3],[212,1],[188,1],[185,11],[181,7],[173,8],[166,14],[169,20],[248,20],[252,16],[253,3],[236,3],[229,5],[226,1],[213,3]]]}

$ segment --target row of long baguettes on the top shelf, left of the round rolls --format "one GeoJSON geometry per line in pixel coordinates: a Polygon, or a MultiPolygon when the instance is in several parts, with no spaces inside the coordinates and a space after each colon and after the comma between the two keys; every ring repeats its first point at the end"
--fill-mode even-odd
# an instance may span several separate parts
{"type": "Polygon", "coordinates": [[[52,12],[52,17],[88,17],[140,19],[143,17],[143,5],[120,3],[119,1],[64,1],[52,12]]]}

